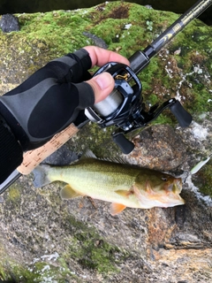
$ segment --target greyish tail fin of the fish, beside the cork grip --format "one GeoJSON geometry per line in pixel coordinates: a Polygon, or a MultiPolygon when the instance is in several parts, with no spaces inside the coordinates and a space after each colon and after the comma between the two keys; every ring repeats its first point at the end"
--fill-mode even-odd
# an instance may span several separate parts
{"type": "Polygon", "coordinates": [[[34,168],[34,187],[43,187],[51,183],[48,177],[49,168],[49,165],[39,165],[34,168]]]}

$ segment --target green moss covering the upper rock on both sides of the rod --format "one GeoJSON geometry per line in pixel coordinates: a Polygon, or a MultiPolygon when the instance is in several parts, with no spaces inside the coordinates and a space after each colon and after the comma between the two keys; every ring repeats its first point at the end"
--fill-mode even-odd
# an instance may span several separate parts
{"type": "MultiPolygon", "coordinates": [[[[145,49],[166,27],[178,19],[178,15],[172,12],[155,11],[138,4],[117,1],[78,11],[37,12],[19,14],[18,17],[21,31],[1,33],[1,52],[5,58],[4,64],[16,61],[19,65],[22,54],[25,58],[33,58],[33,62],[30,59],[26,62],[28,73],[33,73],[49,59],[91,44],[83,31],[101,37],[110,50],[117,50],[125,57],[130,57],[136,50],[145,49]],[[148,29],[147,22],[152,23],[151,30],[148,29]],[[131,26],[126,27],[129,24],[131,26]],[[8,48],[9,46],[12,48],[8,48]]],[[[164,55],[151,59],[148,67],[139,74],[144,101],[152,93],[158,96],[159,103],[166,99],[163,94],[176,96],[179,82],[186,77],[183,88],[180,89],[180,95],[186,98],[186,108],[197,114],[211,111],[211,103],[208,103],[211,95],[208,91],[211,89],[209,74],[212,69],[210,34],[211,27],[205,26],[200,20],[193,20],[165,47],[170,50],[167,58],[164,55]],[[181,52],[175,56],[174,52],[178,48],[181,48],[181,52]],[[169,60],[171,79],[165,71],[169,60]],[[203,73],[188,75],[193,73],[196,65],[202,67],[203,73]],[[188,86],[189,82],[192,87],[188,86]],[[155,88],[158,88],[156,92],[155,88]]]]}

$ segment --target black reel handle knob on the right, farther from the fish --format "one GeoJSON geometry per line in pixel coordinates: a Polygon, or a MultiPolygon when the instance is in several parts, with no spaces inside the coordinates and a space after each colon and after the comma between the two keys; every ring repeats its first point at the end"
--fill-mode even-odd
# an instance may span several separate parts
{"type": "Polygon", "coordinates": [[[186,127],[192,123],[192,115],[186,111],[178,100],[176,100],[175,103],[170,104],[170,111],[178,120],[179,126],[186,127]]]}

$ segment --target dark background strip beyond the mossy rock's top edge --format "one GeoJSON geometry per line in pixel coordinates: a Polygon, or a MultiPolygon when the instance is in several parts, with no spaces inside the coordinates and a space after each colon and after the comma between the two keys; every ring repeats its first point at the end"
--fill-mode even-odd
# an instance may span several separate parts
{"type": "MultiPolygon", "coordinates": [[[[137,4],[150,4],[154,9],[182,13],[196,3],[196,0],[129,0],[137,4]]],[[[0,0],[0,14],[53,10],[73,10],[104,3],[102,0],[0,0]]],[[[201,15],[201,19],[212,25],[212,7],[201,15]]]]}

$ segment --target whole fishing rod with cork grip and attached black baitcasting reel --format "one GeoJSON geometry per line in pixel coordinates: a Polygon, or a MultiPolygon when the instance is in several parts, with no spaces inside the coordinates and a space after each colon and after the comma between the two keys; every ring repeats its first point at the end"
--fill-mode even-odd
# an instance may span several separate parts
{"type": "Polygon", "coordinates": [[[166,108],[170,108],[170,111],[178,119],[180,126],[189,126],[192,122],[192,116],[175,98],[164,102],[160,107],[156,104],[148,111],[145,111],[145,103],[143,103],[141,96],[142,85],[137,74],[148,66],[150,59],[162,50],[164,45],[170,42],[188,23],[199,17],[211,4],[212,0],[200,0],[193,4],[188,11],[168,27],[163,34],[157,37],[154,42],[148,45],[145,50],[136,51],[129,58],[130,67],[117,62],[103,65],[95,75],[108,72],[113,76],[115,88],[110,96],[102,102],[96,103],[94,107],[88,107],[84,113],[80,113],[74,123],[56,134],[41,148],[27,151],[24,154],[23,163],[0,185],[0,194],[7,187],[10,187],[15,180],[18,180],[22,174],[26,175],[32,172],[38,164],[59,149],[90,120],[102,128],[117,126],[117,130],[112,134],[112,138],[125,154],[130,153],[134,148],[133,142],[128,141],[125,138],[125,134],[147,126],[149,122],[156,119],[166,108]]]}

